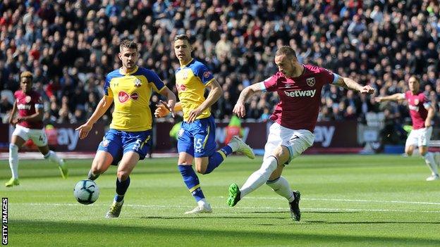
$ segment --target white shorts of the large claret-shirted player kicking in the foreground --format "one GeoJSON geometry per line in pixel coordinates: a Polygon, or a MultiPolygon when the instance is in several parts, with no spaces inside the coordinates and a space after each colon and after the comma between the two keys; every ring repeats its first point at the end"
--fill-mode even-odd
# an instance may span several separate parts
{"type": "Polygon", "coordinates": [[[313,145],[314,134],[307,129],[289,129],[274,122],[269,128],[269,136],[264,146],[264,158],[274,155],[275,149],[280,146],[286,146],[291,154],[288,161],[298,157],[307,148],[313,145]]]}

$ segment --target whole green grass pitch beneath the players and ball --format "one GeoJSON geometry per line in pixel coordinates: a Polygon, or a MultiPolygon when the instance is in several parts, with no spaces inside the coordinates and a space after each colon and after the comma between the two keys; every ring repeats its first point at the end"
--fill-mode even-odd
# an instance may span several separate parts
{"type": "Polygon", "coordinates": [[[199,175],[214,212],[183,215],[195,207],[176,158],[147,159],[131,177],[117,219],[104,219],[114,196],[116,167],[97,179],[92,205],[73,198],[91,160],[56,165],[20,160],[20,186],[0,161],[0,194],[9,200],[10,246],[439,246],[440,182],[425,182],[420,157],[300,156],[284,177],[302,194],[302,218],[293,222],[286,199],[262,186],[228,208],[228,186],[241,186],[262,158],[229,157],[212,174],[199,175]]]}

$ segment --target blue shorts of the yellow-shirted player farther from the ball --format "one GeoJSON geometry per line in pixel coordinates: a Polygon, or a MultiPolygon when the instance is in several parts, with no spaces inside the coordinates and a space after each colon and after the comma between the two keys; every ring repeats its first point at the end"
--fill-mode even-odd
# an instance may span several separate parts
{"type": "Polygon", "coordinates": [[[211,156],[216,151],[214,117],[211,115],[191,123],[182,122],[177,150],[178,153],[189,153],[197,158],[211,156]]]}

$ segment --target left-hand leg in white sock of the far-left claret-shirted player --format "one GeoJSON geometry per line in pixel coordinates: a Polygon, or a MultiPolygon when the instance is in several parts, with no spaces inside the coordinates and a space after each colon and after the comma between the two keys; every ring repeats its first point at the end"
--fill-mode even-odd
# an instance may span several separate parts
{"type": "Polygon", "coordinates": [[[12,133],[11,143],[9,144],[9,167],[11,168],[12,177],[5,183],[6,187],[19,185],[18,180],[18,149],[29,139],[27,132],[20,125],[16,125],[16,129],[12,133]]]}

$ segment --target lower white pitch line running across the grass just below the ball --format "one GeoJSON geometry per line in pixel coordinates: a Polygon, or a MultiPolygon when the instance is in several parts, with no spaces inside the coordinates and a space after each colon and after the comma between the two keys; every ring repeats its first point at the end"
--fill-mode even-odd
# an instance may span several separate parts
{"type": "MultiPolygon", "coordinates": [[[[10,205],[40,205],[40,206],[82,206],[80,203],[9,203],[10,205]]],[[[93,204],[94,206],[106,206],[107,204],[93,204]]],[[[180,206],[180,205],[140,205],[140,204],[127,204],[125,206],[132,208],[192,208],[192,206],[180,206]]],[[[90,207],[90,206],[89,206],[90,207]]],[[[230,207],[214,207],[221,209],[231,209],[230,207]]],[[[287,210],[287,208],[273,208],[273,207],[240,207],[236,209],[266,209],[266,210],[287,210]]],[[[440,210],[395,210],[395,209],[360,209],[360,208],[301,208],[301,210],[307,211],[334,211],[334,212],[394,212],[394,213],[440,213],[440,210]]],[[[243,212],[240,212],[243,213],[243,212]]],[[[281,212],[280,212],[281,213],[281,212]]]]}

